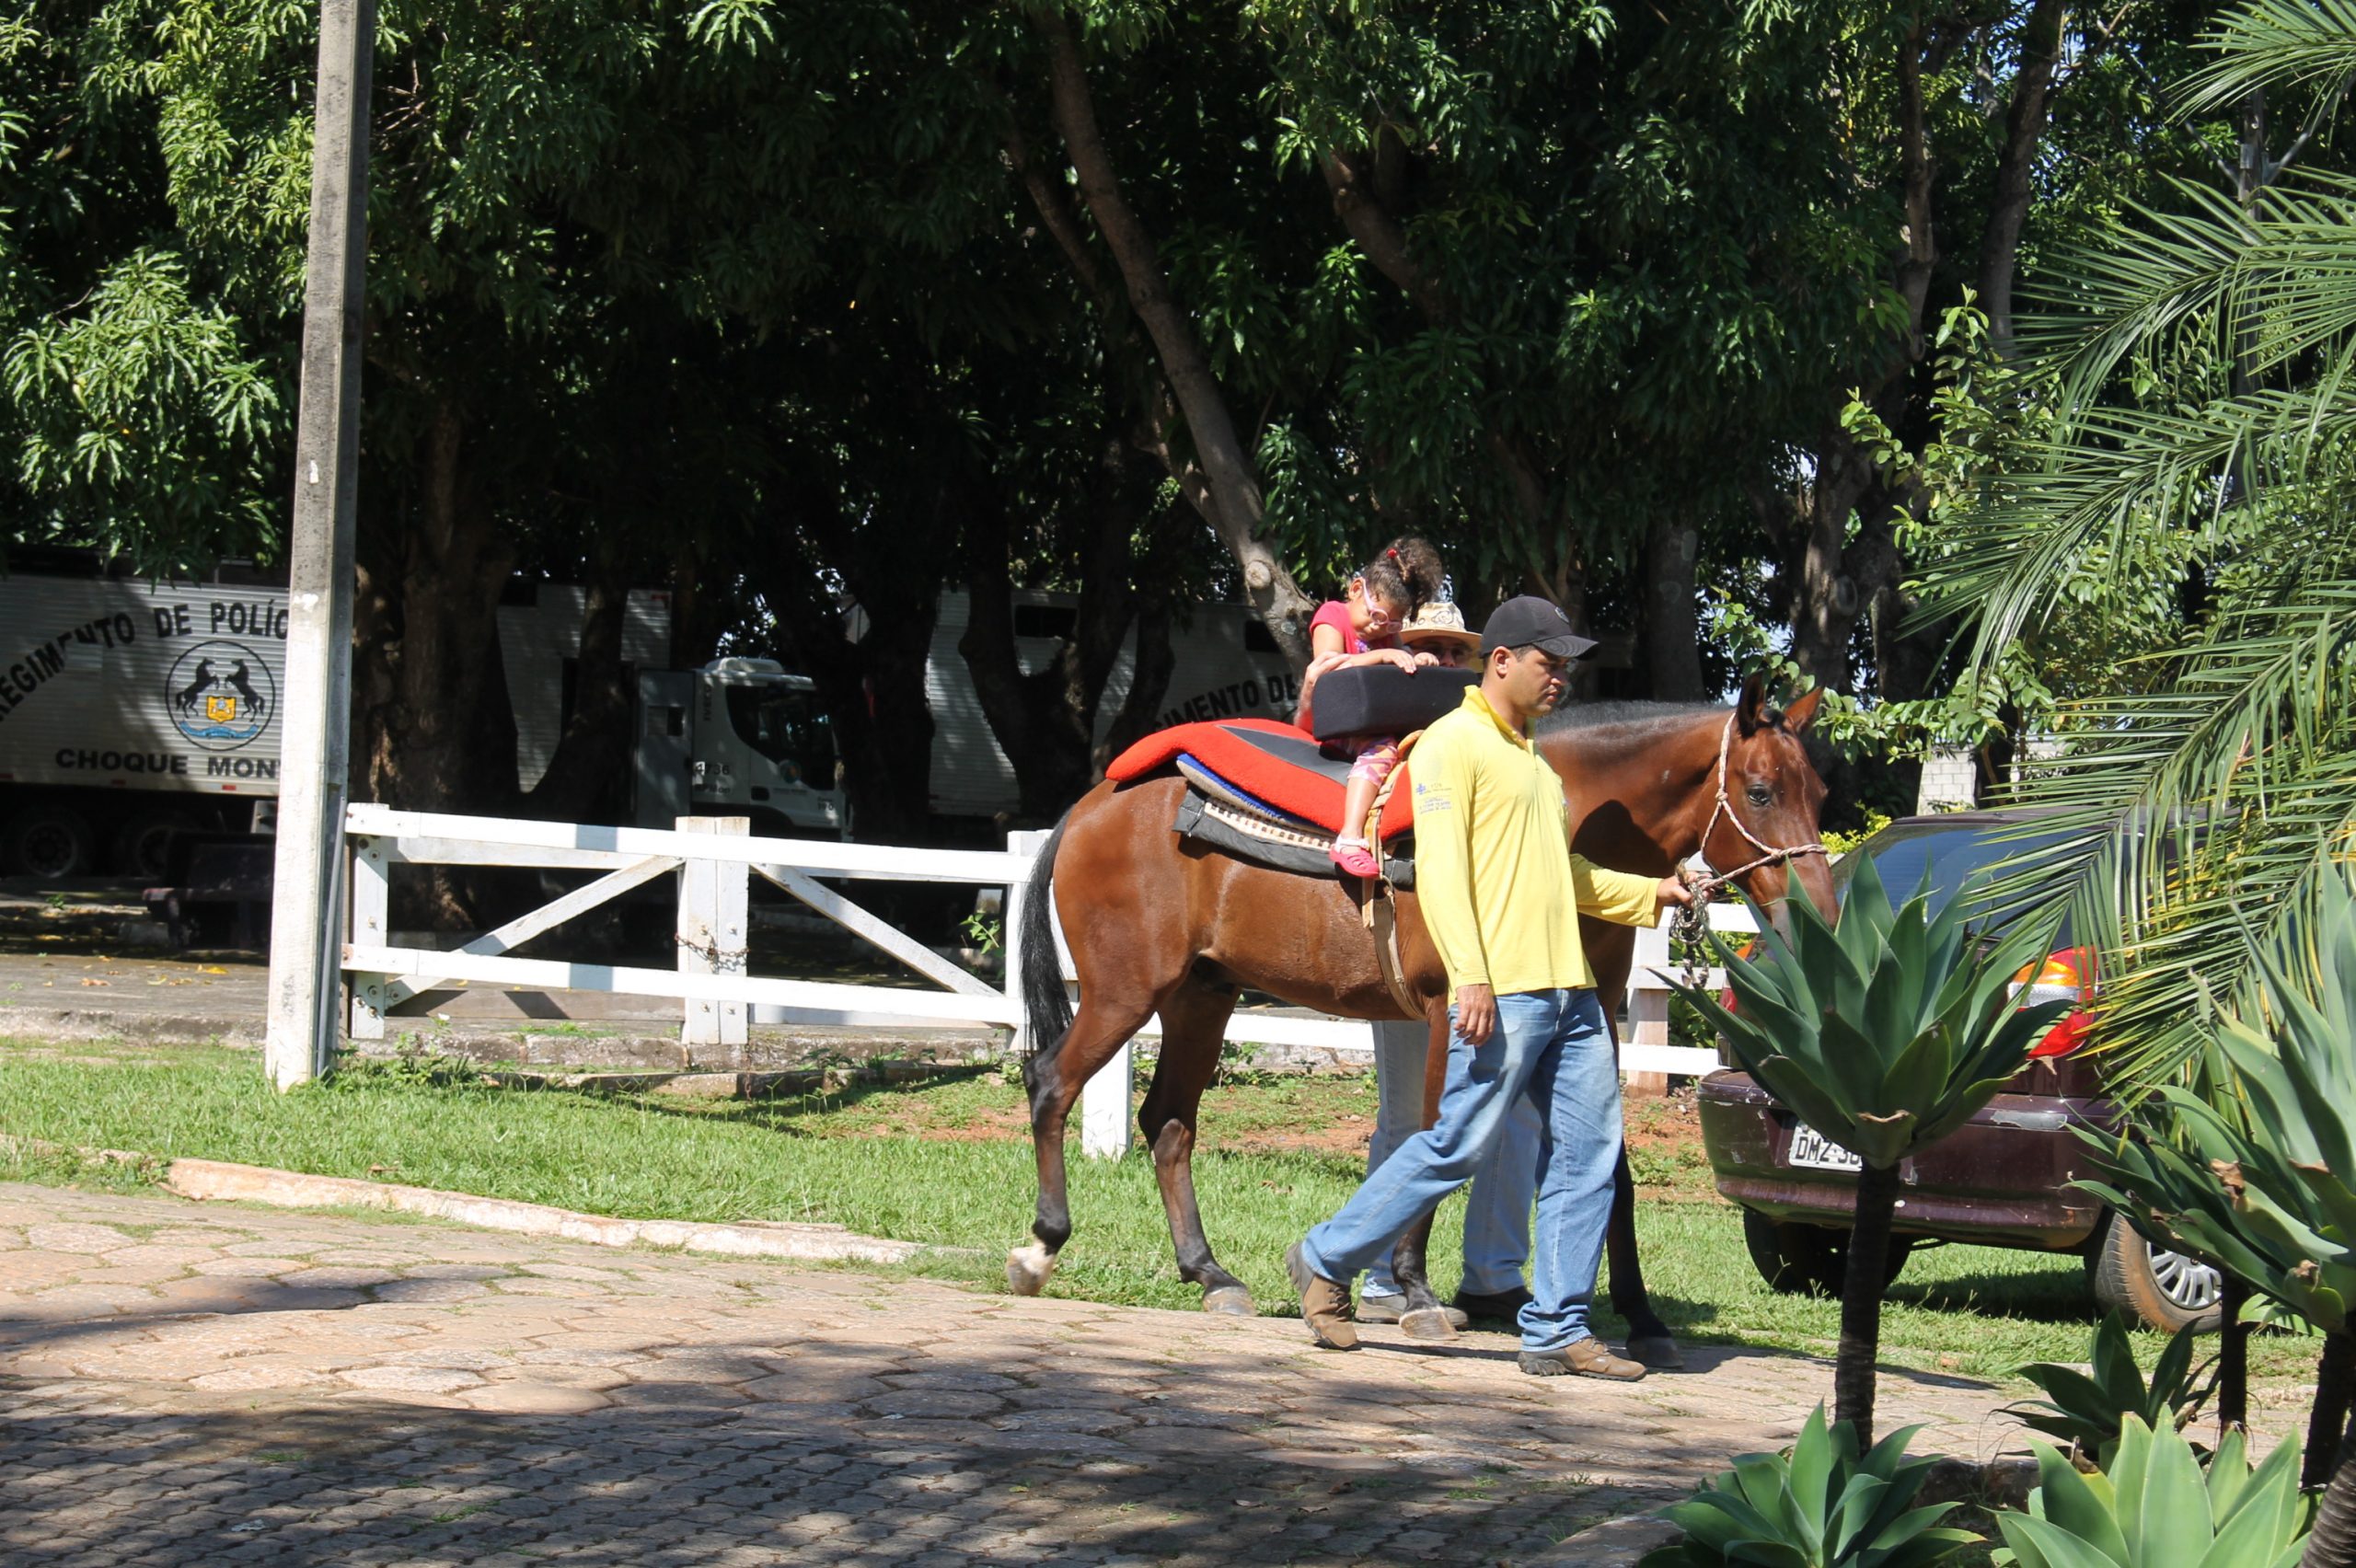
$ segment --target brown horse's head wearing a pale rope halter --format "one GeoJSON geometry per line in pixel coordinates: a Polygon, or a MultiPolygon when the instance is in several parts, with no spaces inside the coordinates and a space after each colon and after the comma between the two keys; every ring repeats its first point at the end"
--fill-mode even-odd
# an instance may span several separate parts
{"type": "Polygon", "coordinates": [[[1807,760],[1800,735],[1816,718],[1821,690],[1807,692],[1788,709],[1767,702],[1767,683],[1760,676],[1743,680],[1743,695],[1734,704],[1734,720],[1725,732],[1725,810],[1710,822],[1701,841],[1701,852],[1710,866],[1765,864],[1734,878],[1734,883],[1760,904],[1767,916],[1783,928],[1783,899],[1791,881],[1800,878],[1809,902],[1831,913],[1833,871],[1821,852],[1769,857],[1767,850],[1798,850],[1819,845],[1816,817],[1824,812],[1824,779],[1807,760]],[[1727,822],[1727,817],[1734,817],[1727,822]]]}

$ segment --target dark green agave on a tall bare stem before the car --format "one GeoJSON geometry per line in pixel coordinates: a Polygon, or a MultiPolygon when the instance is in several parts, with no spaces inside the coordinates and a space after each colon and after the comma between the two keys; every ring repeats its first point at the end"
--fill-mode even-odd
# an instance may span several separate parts
{"type": "Polygon", "coordinates": [[[1873,862],[1861,859],[1838,925],[1795,888],[1791,935],[1760,921],[1748,958],[1710,932],[1734,1008],[1677,986],[1769,1095],[1866,1163],[1833,1368],[1835,1420],[1866,1443],[1899,1161],[1988,1104],[2066,1008],[2012,998],[2012,977],[2045,956],[2047,928],[2024,918],[1984,939],[1967,923],[1972,909],[1970,888],[1939,909],[1927,890],[1892,909],[1873,862]]]}

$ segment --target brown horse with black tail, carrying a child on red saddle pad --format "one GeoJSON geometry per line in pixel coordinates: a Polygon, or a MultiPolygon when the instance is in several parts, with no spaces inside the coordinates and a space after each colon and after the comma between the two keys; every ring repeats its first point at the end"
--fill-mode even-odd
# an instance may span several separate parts
{"type": "MultiPolygon", "coordinates": [[[[1788,873],[1831,906],[1821,855],[1760,859],[1760,845],[1814,845],[1824,782],[1800,746],[1816,711],[1807,695],[1776,711],[1760,685],[1727,709],[1659,709],[1621,723],[1616,711],[1571,711],[1546,720],[1538,749],[1562,775],[1574,848],[1600,866],[1668,876],[1703,850],[1762,902],[1779,904],[1788,873]],[[1791,871],[1786,871],[1786,864],[1791,871]]],[[[1253,866],[1171,833],[1185,782],[1152,777],[1098,784],[1063,819],[1032,873],[1023,911],[1023,1001],[1032,1041],[1025,1064],[1039,1203],[1032,1245],[1006,1257],[1006,1283],[1037,1295],[1072,1236],[1063,1137],[1081,1085],[1145,1024],[1162,1015],[1162,1055],[1138,1109],[1154,1151],[1178,1274],[1202,1285],[1204,1311],[1251,1314],[1251,1293],[1211,1255],[1194,1203],[1194,1114],[1218,1067],[1237,991],[1251,986],[1341,1017],[1399,1017],[1359,911],[1357,885],[1253,866]],[[1048,928],[1053,895],[1072,965],[1072,1015],[1048,928]]],[[[1397,899],[1399,965],[1407,991],[1432,1024],[1435,1074],[1447,1052],[1449,989],[1414,895],[1397,899]]],[[[1581,921],[1597,991],[1609,1017],[1628,982],[1635,932],[1581,921]]],[[[1432,1095],[1425,1097],[1430,1116],[1432,1095]]],[[[1677,1361],[1675,1340],[1644,1300],[1635,1260],[1633,1184],[1626,1158],[1612,1208],[1612,1304],[1628,1321],[1630,1354],[1677,1361]]],[[[1402,1271],[1409,1307],[1432,1314],[1421,1255],[1402,1271]]],[[[1435,1314],[1432,1314],[1435,1316],[1435,1314]]]]}

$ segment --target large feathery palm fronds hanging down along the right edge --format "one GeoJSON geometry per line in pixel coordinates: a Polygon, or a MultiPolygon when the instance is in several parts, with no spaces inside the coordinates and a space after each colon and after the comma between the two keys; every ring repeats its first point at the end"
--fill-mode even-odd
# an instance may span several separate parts
{"type": "Polygon", "coordinates": [[[2010,690],[2024,643],[2047,671],[2066,749],[2033,800],[2069,843],[2021,883],[2066,885],[2104,949],[2127,1092],[2196,1071],[2203,989],[2243,991],[2245,930],[2281,935],[2356,829],[2356,179],[2309,167],[2356,12],[2238,5],[2208,57],[2184,108],[2264,87],[2304,106],[2304,160],[2266,148],[2238,195],[2156,181],[2052,252],[2003,452],[1958,469],[1922,584],[1967,680],[2010,690]]]}

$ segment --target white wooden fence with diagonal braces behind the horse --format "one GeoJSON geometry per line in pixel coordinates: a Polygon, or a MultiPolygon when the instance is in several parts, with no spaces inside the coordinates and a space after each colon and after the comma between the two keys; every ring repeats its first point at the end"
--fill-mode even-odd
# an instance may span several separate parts
{"type": "MultiPolygon", "coordinates": [[[[1023,1031],[1023,902],[1046,833],[1008,833],[1006,850],[916,850],[813,838],[752,838],[744,817],[681,817],[676,829],[582,826],[509,817],[452,817],[351,805],[344,833],[351,850],[351,932],[344,972],[351,982],[351,1038],[384,1038],[386,1019],[424,1012],[431,991],[448,982],[502,984],[535,991],[617,991],[679,998],[681,1043],[742,1045],[752,1010],[773,1008],[787,1022],[841,1026],[1004,1026],[1023,1031]],[[530,866],[544,871],[603,871],[596,881],[516,916],[457,949],[396,946],[391,942],[393,866],[530,866]],[[629,968],[565,958],[516,958],[514,949],[547,935],[662,876],[676,885],[676,968],[629,968]],[[933,986],[855,986],[839,982],[759,977],[747,972],[747,890],[759,873],[836,921],[933,986]],[[820,881],[825,878],[825,881],[820,881]],[[959,883],[1004,888],[1004,979],[990,982],[914,942],[855,904],[827,881],[959,883]]],[[[1710,911],[1720,930],[1751,930],[1739,906],[1710,911]]],[[[1063,954],[1063,932],[1055,932],[1063,954]]],[[[1715,1052],[1668,1043],[1668,989],[1654,975],[1668,968],[1668,930],[1637,935],[1630,977],[1626,1074],[1706,1074],[1715,1052]]],[[[1063,954],[1065,979],[1072,979],[1063,954]]],[[[1715,970],[1708,984],[1720,984],[1715,970]]],[[[1145,1036],[1162,1034],[1150,1019],[1145,1036]]],[[[1374,1055],[1374,1026],[1359,1019],[1242,1008],[1227,1041],[1303,1045],[1338,1055],[1374,1055]]],[[[1124,1154],[1131,1135],[1133,1062],[1124,1048],[1081,1097],[1081,1147],[1124,1154]]]]}

